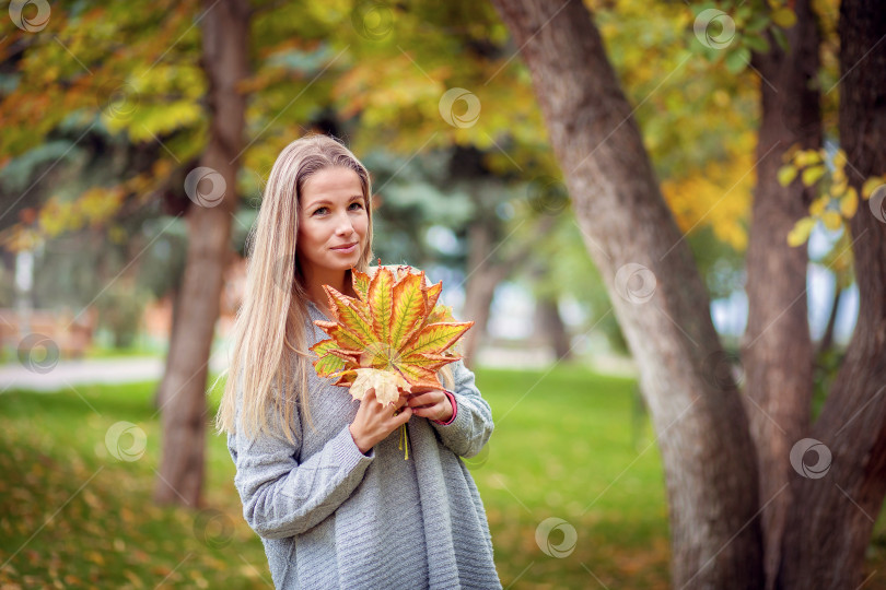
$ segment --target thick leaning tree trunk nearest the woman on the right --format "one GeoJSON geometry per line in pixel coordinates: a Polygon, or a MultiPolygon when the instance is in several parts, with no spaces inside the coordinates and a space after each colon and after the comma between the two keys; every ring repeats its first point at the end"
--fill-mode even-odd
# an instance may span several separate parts
{"type": "Polygon", "coordinates": [[[493,0],[533,76],[575,214],[640,366],[658,436],[675,588],[763,583],[755,449],[710,302],[587,9],[493,0]]]}

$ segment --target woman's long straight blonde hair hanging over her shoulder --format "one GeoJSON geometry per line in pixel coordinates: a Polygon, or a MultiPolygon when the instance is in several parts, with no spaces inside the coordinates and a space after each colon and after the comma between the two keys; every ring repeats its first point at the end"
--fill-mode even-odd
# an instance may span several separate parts
{"type": "MultiPolygon", "coordinates": [[[[243,427],[247,437],[282,433],[293,441],[290,425],[296,403],[313,427],[307,376],[314,370],[311,361],[315,355],[307,350],[308,297],[298,264],[296,237],[305,181],[334,167],[351,169],[360,178],[369,225],[366,245],[355,268],[369,272],[372,185],[366,168],[348,148],[328,135],[308,134],[293,141],[273,163],[258,217],[246,240],[246,290],[234,323],[228,381],[215,416],[219,433],[243,427]],[[238,393],[243,397],[240,420],[238,393]],[[271,406],[275,412],[269,412],[271,406]],[[269,415],[279,424],[269,425],[269,415]]],[[[346,281],[350,274],[347,271],[346,281]]],[[[452,370],[444,370],[443,376],[452,388],[452,370]]]]}

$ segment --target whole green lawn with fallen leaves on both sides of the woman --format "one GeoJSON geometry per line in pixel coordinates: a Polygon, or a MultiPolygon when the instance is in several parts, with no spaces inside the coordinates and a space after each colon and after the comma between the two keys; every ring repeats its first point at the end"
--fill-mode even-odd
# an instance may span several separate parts
{"type": "MultiPolygon", "coordinates": [[[[666,588],[662,468],[633,381],[560,366],[478,370],[477,382],[496,432],[469,464],[502,583],[596,588],[596,577],[610,588],[666,588]],[[549,517],[576,531],[567,557],[536,543],[549,517]]],[[[151,502],[160,460],[154,384],[78,391],[82,398],[71,390],[0,396],[0,564],[9,559],[0,587],[267,587],[224,439],[208,439],[205,498],[214,511],[160,508],[151,502]],[[106,433],[120,421],[147,434],[138,460],[108,452],[106,433]]],[[[121,447],[132,440],[125,435],[121,447]]],[[[561,530],[549,535],[553,545],[561,530]]]]}

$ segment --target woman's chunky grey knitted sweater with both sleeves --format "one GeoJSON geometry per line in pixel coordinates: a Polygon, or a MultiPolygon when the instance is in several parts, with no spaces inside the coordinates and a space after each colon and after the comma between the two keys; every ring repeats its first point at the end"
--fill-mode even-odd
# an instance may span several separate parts
{"type": "MultiPolygon", "coordinates": [[[[328,320],[313,303],[308,314],[328,320]]],[[[311,321],[308,345],[325,338],[311,321]]],[[[459,459],[486,445],[492,415],[474,374],[452,366],[455,417],[410,417],[408,460],[399,428],[360,452],[348,428],[360,402],[313,370],[315,429],[294,412],[295,444],[229,434],[243,516],[278,589],[501,588],[486,511],[459,459]]]]}

